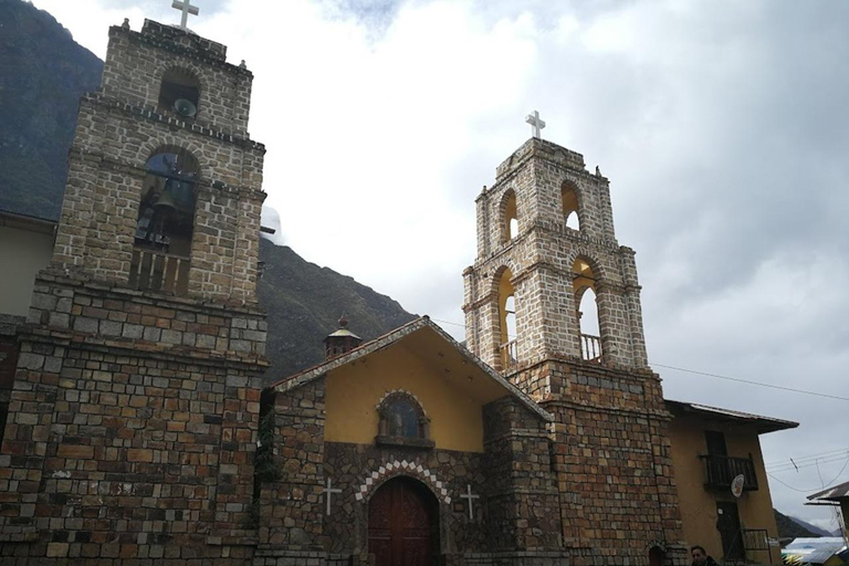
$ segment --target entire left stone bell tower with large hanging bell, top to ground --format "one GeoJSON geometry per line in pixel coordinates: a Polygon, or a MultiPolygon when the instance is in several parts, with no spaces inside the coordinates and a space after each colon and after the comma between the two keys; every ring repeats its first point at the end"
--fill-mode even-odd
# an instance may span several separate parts
{"type": "Polygon", "coordinates": [[[185,27],[109,29],[20,334],[0,560],[250,556],[265,149],[226,54],[185,27]]]}

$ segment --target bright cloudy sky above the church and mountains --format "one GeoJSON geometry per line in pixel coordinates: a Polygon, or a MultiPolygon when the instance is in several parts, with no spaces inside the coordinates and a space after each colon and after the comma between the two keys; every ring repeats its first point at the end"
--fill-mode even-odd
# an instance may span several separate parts
{"type": "MultiPolygon", "coordinates": [[[[611,180],[667,396],[799,421],[762,439],[775,506],[836,528],[803,502],[849,480],[848,400],[667,366],[849,398],[849,3],[196,1],[254,72],[281,242],[458,337],[473,199],[538,109],[611,180]]],[[[179,21],[33,3],[101,57],[124,18],[179,21]]]]}

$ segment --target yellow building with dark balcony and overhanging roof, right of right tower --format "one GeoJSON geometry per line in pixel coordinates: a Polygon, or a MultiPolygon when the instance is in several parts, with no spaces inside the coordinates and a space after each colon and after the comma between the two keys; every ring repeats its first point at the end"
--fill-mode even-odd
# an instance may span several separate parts
{"type": "Polygon", "coordinates": [[[780,564],[759,436],[797,422],[667,399],[681,524],[715,558],[780,564]],[[732,493],[742,476],[740,496],[732,493]]]}

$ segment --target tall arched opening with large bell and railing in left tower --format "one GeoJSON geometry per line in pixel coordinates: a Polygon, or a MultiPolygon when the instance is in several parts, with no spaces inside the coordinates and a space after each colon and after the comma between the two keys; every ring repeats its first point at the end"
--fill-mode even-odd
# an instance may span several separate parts
{"type": "Polygon", "coordinates": [[[145,169],[129,284],[140,290],[185,294],[198,160],[185,149],[165,147],[150,156],[145,169]]]}

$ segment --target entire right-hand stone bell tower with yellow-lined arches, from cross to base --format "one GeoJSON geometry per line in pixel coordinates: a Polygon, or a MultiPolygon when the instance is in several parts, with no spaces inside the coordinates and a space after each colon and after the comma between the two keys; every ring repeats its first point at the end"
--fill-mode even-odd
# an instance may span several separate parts
{"type": "Polygon", "coordinates": [[[497,167],[476,216],[478,258],[463,272],[467,344],[555,416],[572,564],[648,565],[656,546],[663,564],[685,564],[670,416],[648,368],[633,251],[617,243],[608,179],[537,130],[497,167]],[[580,329],[589,290],[598,336],[580,329]]]}

